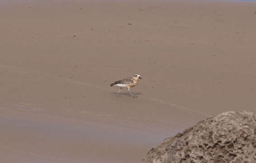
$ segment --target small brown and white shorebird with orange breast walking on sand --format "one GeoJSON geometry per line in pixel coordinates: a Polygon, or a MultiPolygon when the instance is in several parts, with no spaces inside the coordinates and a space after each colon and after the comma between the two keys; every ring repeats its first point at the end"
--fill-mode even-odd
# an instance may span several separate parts
{"type": "Polygon", "coordinates": [[[116,96],[119,96],[121,97],[121,95],[119,94],[120,90],[123,88],[123,87],[126,87],[128,88],[129,90],[129,94],[132,96],[132,97],[137,97],[135,95],[133,95],[132,93],[130,93],[130,88],[131,87],[134,87],[138,84],[139,80],[141,79],[140,75],[139,74],[135,74],[134,76],[132,77],[126,77],[122,80],[119,80],[119,81],[116,81],[116,82],[113,82],[110,84],[110,86],[119,86],[119,90],[117,91],[117,94],[116,96]]]}

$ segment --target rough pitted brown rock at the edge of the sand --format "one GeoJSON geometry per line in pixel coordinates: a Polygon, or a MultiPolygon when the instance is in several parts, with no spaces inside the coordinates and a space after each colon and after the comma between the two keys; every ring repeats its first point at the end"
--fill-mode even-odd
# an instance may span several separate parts
{"type": "Polygon", "coordinates": [[[142,163],[256,163],[256,115],[224,112],[152,148],[142,163]]]}

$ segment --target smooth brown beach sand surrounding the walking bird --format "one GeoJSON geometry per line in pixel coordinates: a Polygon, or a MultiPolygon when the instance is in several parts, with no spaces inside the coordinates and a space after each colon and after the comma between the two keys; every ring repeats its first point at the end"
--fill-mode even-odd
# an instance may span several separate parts
{"type": "Polygon", "coordinates": [[[140,163],[256,113],[256,3],[0,0],[0,163],[140,163]],[[109,84],[140,73],[138,98],[109,84]]]}

